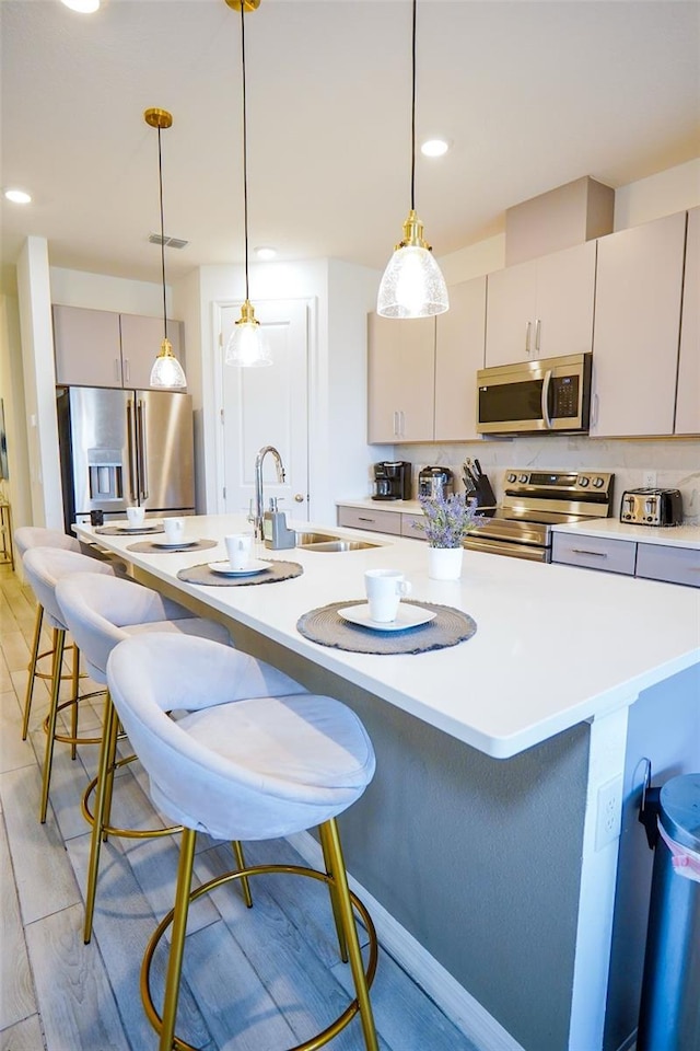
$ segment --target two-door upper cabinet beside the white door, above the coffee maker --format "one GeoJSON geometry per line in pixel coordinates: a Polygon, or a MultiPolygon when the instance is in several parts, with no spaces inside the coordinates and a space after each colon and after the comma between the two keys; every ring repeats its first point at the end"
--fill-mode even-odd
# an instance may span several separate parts
{"type": "Polygon", "coordinates": [[[368,315],[368,441],[432,441],[435,319],[368,315]]]}

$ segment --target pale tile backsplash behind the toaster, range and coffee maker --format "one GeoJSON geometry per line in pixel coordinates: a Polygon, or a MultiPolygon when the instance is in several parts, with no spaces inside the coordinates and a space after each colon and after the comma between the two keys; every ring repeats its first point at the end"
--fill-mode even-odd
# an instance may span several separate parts
{"type": "MultiPolygon", "coordinates": [[[[611,515],[616,518],[622,493],[644,485],[645,472],[655,471],[657,486],[680,489],[684,520],[700,524],[700,441],[697,439],[635,441],[546,435],[463,444],[395,446],[394,453],[396,459],[410,460],[413,464],[415,487],[418,472],[431,464],[451,467],[455,473],[456,488],[463,489],[465,457],[477,458],[499,500],[503,496],[503,477],[508,467],[610,471],[615,474],[611,515]]],[[[386,451],[377,454],[380,459],[388,459],[386,451]]]]}

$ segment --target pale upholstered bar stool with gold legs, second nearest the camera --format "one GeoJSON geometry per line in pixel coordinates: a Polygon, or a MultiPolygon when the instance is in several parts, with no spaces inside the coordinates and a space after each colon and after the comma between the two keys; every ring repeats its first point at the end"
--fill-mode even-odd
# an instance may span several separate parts
{"type": "MultiPolygon", "coordinates": [[[[56,584],[56,601],[61,619],[80,647],[90,677],[106,685],[107,659],[122,639],[131,635],[151,632],[171,632],[178,636],[189,635],[209,638],[230,646],[231,637],[223,624],[195,616],[185,607],[165,599],[158,591],[124,580],[119,577],[95,576],[91,573],[75,573],[62,577],[56,584]]],[[[117,760],[118,718],[109,697],[105,698],[102,748],[97,776],[88,785],[82,799],[85,820],[92,824],[90,861],[88,865],[88,886],[85,891],[85,924],[83,938],[88,944],[92,937],[92,922],[100,870],[100,852],[107,835],[130,839],[170,835],[182,831],[179,825],[166,829],[124,829],[110,824],[112,794],[114,772],[117,767],[130,763],[136,755],[117,760]],[[90,796],[95,790],[94,813],[90,809],[90,796]]],[[[236,861],[241,868],[245,865],[240,843],[233,844],[236,861]]],[[[247,883],[243,886],[246,904],[252,904],[247,883]]]]}

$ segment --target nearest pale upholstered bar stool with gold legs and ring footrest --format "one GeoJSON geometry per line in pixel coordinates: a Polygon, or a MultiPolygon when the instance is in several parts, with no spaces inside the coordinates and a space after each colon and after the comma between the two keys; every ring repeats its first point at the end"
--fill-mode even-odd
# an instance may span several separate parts
{"type": "Polygon", "coordinates": [[[141,996],[160,1033],[160,1051],[191,1051],[175,1037],[189,902],[214,887],[261,873],[287,871],[325,881],[340,952],[350,959],[355,998],[323,1032],[300,1044],[319,1048],[359,1012],[368,1051],[377,1038],[369,986],[376,935],[348,888],[336,818],[360,798],[374,774],[374,751],[361,721],[331,697],[290,690],[290,680],[262,661],[201,638],[168,635],[120,643],[107,662],[119,718],[150,776],[154,804],[184,825],[175,906],[159,924],[141,968],[141,996]],[[177,723],[170,708],[186,709],[177,723]],[[191,891],[198,831],[220,840],[267,840],[319,827],[326,873],[260,865],[219,876],[191,891]],[[370,933],[364,970],[352,905],[370,933]],[[162,1017],[153,1004],[150,967],[173,924],[162,1017]]]}

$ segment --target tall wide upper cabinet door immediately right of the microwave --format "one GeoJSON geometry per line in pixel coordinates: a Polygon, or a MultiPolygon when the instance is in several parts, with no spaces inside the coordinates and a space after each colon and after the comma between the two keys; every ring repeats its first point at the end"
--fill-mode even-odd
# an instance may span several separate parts
{"type": "Polygon", "coordinates": [[[685,239],[684,211],[598,242],[594,438],[674,434],[685,239]]]}

